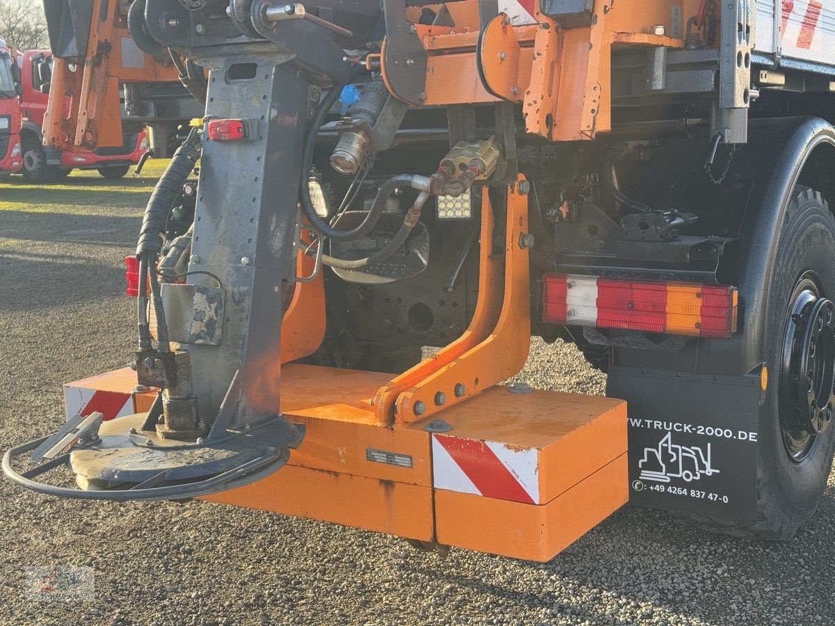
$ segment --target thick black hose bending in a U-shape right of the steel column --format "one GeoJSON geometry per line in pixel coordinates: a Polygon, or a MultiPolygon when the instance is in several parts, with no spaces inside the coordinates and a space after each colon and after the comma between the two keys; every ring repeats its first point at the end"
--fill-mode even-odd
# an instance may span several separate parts
{"type": "Polygon", "coordinates": [[[337,101],[340,93],[342,93],[342,85],[334,85],[334,87],[331,88],[331,91],[327,93],[325,98],[319,104],[319,108],[316,109],[316,115],[314,116],[311,128],[307,133],[304,152],[301,156],[300,196],[301,208],[304,210],[305,216],[311,223],[314,230],[332,240],[352,241],[357,240],[372,231],[374,226],[377,225],[377,220],[380,219],[380,215],[382,215],[383,210],[386,208],[386,202],[389,196],[394,193],[394,189],[397,189],[397,187],[402,185],[411,184],[412,176],[407,174],[392,176],[392,178],[383,183],[382,187],[380,187],[380,190],[377,192],[377,197],[374,199],[374,203],[372,204],[371,210],[368,211],[368,215],[366,215],[365,220],[362,220],[362,224],[358,225],[357,228],[353,230],[334,229],[325,220],[322,220],[319,215],[316,215],[316,209],[313,207],[310,191],[310,171],[313,165],[313,149],[316,147],[316,135],[319,134],[321,124],[325,121],[328,111],[331,110],[333,103],[337,101]]]}

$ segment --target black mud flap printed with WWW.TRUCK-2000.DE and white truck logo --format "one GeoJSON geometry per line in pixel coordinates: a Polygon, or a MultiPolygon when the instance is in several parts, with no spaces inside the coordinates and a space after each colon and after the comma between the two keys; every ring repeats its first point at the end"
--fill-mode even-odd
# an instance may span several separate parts
{"type": "Polygon", "coordinates": [[[759,376],[615,366],[606,395],[627,401],[631,503],[756,520],[759,376]]]}

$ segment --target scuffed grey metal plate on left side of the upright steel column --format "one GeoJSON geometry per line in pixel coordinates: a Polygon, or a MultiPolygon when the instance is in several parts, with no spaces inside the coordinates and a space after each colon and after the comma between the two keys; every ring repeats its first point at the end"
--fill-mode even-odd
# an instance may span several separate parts
{"type": "Polygon", "coordinates": [[[224,290],[205,285],[162,285],[165,322],[171,341],[220,346],[224,290]]]}

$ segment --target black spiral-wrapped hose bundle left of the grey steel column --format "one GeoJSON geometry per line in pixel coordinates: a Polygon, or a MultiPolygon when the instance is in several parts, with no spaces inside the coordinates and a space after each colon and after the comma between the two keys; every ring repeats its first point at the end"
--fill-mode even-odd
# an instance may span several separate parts
{"type": "Polygon", "coordinates": [[[197,159],[200,159],[200,135],[195,128],[191,129],[189,138],[174,153],[174,158],[165,168],[145,207],[142,229],[139,230],[139,243],[136,245],[136,256],[139,260],[145,252],[155,256],[162,252],[162,234],[171,207],[180,197],[186,179],[195,169],[197,159]]]}

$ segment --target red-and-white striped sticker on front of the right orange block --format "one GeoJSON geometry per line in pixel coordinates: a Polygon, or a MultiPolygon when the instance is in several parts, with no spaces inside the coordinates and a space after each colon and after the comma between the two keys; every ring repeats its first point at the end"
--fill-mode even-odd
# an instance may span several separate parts
{"type": "Polygon", "coordinates": [[[538,451],[504,443],[433,435],[435,488],[539,504],[538,451]]]}

